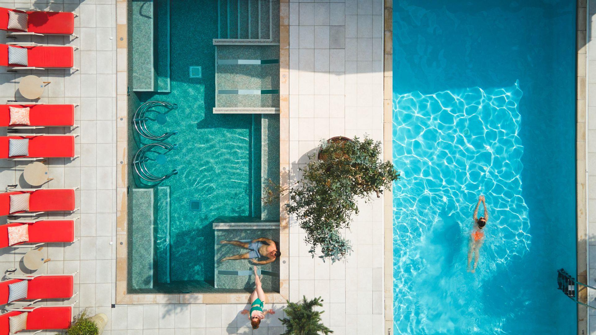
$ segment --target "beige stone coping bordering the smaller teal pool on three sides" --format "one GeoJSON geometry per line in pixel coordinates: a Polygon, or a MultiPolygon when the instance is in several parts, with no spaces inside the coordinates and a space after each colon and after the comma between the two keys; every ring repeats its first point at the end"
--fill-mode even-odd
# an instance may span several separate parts
{"type": "MultiPolygon", "coordinates": [[[[116,1],[116,304],[157,303],[246,303],[250,293],[132,294],[128,293],[128,22],[126,0],[116,1]]],[[[289,154],[289,4],[280,1],[280,184],[288,185],[289,154]]],[[[289,255],[288,216],[280,199],[280,251],[289,255]]],[[[289,297],[290,258],[280,258],[280,293],[266,293],[271,303],[285,303],[289,297]]]]}

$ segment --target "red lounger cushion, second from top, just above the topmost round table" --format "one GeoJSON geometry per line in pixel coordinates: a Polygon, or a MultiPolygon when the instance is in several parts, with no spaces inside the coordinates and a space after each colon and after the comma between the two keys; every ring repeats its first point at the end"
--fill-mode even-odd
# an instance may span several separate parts
{"type": "MultiPolygon", "coordinates": [[[[73,67],[72,46],[18,46],[27,48],[27,66],[30,67],[73,67]]],[[[8,45],[0,44],[0,66],[20,66],[8,64],[8,45]]]]}

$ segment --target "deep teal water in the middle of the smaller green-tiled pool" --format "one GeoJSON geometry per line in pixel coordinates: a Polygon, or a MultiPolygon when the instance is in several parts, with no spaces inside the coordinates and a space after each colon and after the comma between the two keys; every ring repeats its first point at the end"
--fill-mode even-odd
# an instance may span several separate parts
{"type": "MultiPolygon", "coordinates": [[[[141,266],[136,266],[134,256],[129,258],[129,284],[135,283],[135,277],[153,275],[153,287],[129,289],[175,293],[210,291],[214,290],[215,243],[218,242],[215,241],[213,222],[226,219],[258,223],[262,220],[262,117],[260,114],[212,112],[216,85],[213,39],[218,37],[218,2],[172,0],[169,2],[169,15],[169,41],[157,31],[156,36],[160,36],[157,42],[160,48],[161,44],[169,43],[170,92],[131,92],[131,100],[135,101],[131,114],[145,101],[167,101],[178,105],[174,110],[156,107],[147,113],[150,117],[147,127],[153,134],[177,131],[175,135],[162,139],[177,145],[177,148],[165,154],[164,162],[148,162],[147,168],[155,175],[166,175],[173,169],[178,173],[159,183],[159,187],[169,187],[169,197],[164,204],[169,206],[169,225],[166,227],[160,221],[162,217],[156,215],[153,273],[147,274],[145,269],[140,269],[141,266]],[[200,76],[197,76],[198,72],[190,72],[191,67],[197,66],[201,67],[200,76]],[[162,225],[165,230],[160,230],[162,225]],[[169,267],[169,283],[161,282],[157,274],[160,266],[169,267]]],[[[165,61],[166,58],[159,59],[160,69],[167,68],[162,64],[165,61]]],[[[277,115],[269,117],[268,121],[272,128],[279,128],[277,115]]],[[[136,134],[134,128],[131,128],[130,135],[130,157],[142,145],[154,142],[136,134]]],[[[275,136],[275,132],[269,135],[275,136]]],[[[278,141],[278,138],[274,140],[278,141]]],[[[268,153],[271,155],[269,159],[277,162],[277,166],[278,152],[268,153]]],[[[150,153],[148,156],[156,158],[157,154],[150,153]]],[[[275,181],[275,176],[272,179],[275,181]]],[[[132,172],[129,183],[130,188],[157,186],[132,172]]],[[[129,201],[132,192],[134,190],[129,191],[129,201]]],[[[157,194],[155,197],[158,197],[157,194]]],[[[156,198],[156,203],[158,200],[163,201],[164,198],[156,198]]],[[[159,206],[156,204],[154,212],[159,212],[159,206]]],[[[129,220],[132,217],[129,215],[129,220]]],[[[132,227],[131,230],[134,230],[135,224],[129,221],[129,229],[132,227]]],[[[129,238],[131,236],[129,234],[129,238]]],[[[271,238],[278,240],[274,236],[271,238]]],[[[139,240],[132,242],[142,243],[139,240]]],[[[240,249],[235,251],[241,253],[240,249]]],[[[130,249],[129,255],[132,255],[130,249]]],[[[151,255],[147,257],[151,258],[151,255]]]]}

